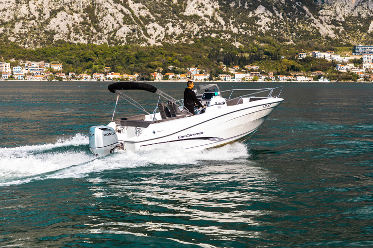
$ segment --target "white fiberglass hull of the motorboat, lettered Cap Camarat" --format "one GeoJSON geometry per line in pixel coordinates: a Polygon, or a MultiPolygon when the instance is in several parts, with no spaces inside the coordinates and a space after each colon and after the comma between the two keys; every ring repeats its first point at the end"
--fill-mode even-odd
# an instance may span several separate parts
{"type": "MultiPolygon", "coordinates": [[[[198,151],[250,138],[271,112],[283,101],[267,98],[226,106],[203,114],[165,122],[154,122],[136,132],[117,132],[124,150],[138,151],[170,145],[198,151]],[[129,137],[132,136],[132,137],[129,137]]],[[[115,126],[110,123],[108,126],[115,126]]]]}

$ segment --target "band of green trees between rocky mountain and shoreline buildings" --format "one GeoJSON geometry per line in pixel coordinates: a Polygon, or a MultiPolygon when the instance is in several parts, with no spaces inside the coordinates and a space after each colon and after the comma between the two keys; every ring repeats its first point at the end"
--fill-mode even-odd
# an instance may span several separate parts
{"type": "MultiPolygon", "coordinates": [[[[140,73],[146,80],[150,78],[150,73],[160,71],[160,68],[165,69],[162,73],[170,72],[167,70],[170,65],[175,67],[171,70],[174,73],[186,73],[185,68],[198,67],[212,77],[222,73],[219,69],[222,64],[227,67],[238,65],[241,69],[247,64],[258,65],[263,73],[273,71],[278,75],[306,74],[316,70],[333,73],[333,62],[311,57],[298,60],[298,52],[352,50],[352,47],[333,47],[315,42],[280,42],[270,37],[255,37],[247,46],[238,48],[219,38],[192,41],[191,44],[140,47],[69,44],[59,40],[53,46],[35,49],[4,41],[0,43],[0,59],[11,62],[11,66],[23,65],[26,61],[62,63],[63,72],[76,74],[99,73],[105,66],[110,66],[110,71],[140,73]]],[[[333,42],[338,44],[338,41],[333,42]]]]}

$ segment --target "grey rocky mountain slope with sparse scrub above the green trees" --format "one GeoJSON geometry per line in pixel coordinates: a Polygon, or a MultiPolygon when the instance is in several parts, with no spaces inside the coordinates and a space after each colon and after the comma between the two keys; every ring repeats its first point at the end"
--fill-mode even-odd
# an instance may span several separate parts
{"type": "Polygon", "coordinates": [[[0,36],[22,47],[141,46],[217,37],[373,44],[372,0],[2,0],[0,36]]]}

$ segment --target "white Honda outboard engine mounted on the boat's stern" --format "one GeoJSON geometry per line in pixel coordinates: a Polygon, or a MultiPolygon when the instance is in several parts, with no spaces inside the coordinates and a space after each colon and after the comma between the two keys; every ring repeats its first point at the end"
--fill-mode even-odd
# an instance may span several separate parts
{"type": "Polygon", "coordinates": [[[118,142],[117,133],[109,126],[89,128],[89,149],[96,156],[104,156],[115,151],[118,142]]]}

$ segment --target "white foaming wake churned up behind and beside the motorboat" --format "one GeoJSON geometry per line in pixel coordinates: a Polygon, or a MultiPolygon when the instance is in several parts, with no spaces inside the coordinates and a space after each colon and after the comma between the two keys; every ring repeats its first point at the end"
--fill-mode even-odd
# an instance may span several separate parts
{"type": "Polygon", "coordinates": [[[248,156],[245,144],[232,143],[193,153],[165,144],[150,151],[96,157],[89,151],[88,137],[77,134],[54,144],[0,148],[0,186],[45,179],[85,178],[90,173],[123,168],[233,161],[248,156]]]}

